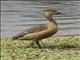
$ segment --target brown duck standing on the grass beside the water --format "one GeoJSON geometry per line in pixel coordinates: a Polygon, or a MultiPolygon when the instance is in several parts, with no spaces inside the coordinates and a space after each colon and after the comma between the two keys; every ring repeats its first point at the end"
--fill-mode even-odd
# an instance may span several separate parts
{"type": "Polygon", "coordinates": [[[31,46],[36,43],[39,48],[42,48],[39,41],[57,33],[58,23],[53,19],[53,16],[60,14],[60,12],[55,9],[45,9],[43,12],[43,16],[48,20],[46,24],[36,25],[26,29],[13,36],[13,40],[31,40],[31,46]]]}

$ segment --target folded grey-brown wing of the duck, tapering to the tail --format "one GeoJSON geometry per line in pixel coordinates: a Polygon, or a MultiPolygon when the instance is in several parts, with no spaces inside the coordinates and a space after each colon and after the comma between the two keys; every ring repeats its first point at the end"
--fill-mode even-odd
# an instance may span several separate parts
{"type": "Polygon", "coordinates": [[[24,35],[27,35],[30,33],[35,33],[35,32],[40,32],[40,31],[46,30],[46,29],[47,29],[46,25],[37,25],[37,26],[31,27],[29,29],[26,29],[23,32],[19,33],[18,35],[14,36],[13,40],[23,37],[24,35]]]}

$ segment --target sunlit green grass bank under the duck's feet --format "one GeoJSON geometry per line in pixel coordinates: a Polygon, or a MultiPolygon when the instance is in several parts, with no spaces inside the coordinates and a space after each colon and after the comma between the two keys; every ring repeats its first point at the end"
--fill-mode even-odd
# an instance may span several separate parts
{"type": "Polygon", "coordinates": [[[30,42],[1,36],[1,60],[80,60],[80,36],[44,39],[42,49],[29,47],[30,42]]]}

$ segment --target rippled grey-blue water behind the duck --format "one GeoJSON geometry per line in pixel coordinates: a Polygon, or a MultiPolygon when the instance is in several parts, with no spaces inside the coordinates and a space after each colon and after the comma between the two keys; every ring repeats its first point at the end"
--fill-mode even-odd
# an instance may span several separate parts
{"type": "Polygon", "coordinates": [[[16,35],[47,23],[43,10],[48,7],[63,13],[53,17],[59,26],[56,35],[80,35],[80,1],[1,1],[1,34],[16,35]]]}

